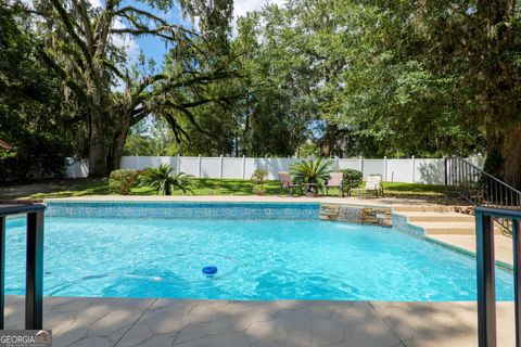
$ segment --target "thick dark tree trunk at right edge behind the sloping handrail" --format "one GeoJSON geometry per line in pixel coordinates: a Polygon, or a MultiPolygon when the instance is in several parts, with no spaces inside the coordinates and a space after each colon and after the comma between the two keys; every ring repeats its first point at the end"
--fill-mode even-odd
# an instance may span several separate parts
{"type": "Polygon", "coordinates": [[[521,120],[507,125],[492,121],[486,132],[485,171],[521,189],[521,120]]]}

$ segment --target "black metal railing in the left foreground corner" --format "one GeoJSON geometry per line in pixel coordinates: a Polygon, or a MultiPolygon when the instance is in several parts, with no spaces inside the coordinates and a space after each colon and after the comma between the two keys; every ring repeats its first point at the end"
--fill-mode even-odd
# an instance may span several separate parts
{"type": "Polygon", "coordinates": [[[41,204],[0,204],[0,330],[5,325],[5,219],[27,215],[25,329],[41,330],[43,324],[43,210],[41,204]]]}

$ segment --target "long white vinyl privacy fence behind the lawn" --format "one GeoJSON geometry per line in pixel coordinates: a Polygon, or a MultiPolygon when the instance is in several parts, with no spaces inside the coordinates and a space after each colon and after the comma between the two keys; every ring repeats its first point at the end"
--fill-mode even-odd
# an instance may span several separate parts
{"type": "MultiPolygon", "coordinates": [[[[142,170],[161,164],[171,165],[176,172],[185,172],[196,178],[236,178],[249,179],[253,171],[262,168],[268,171],[268,179],[277,179],[277,171],[288,171],[293,163],[303,158],[249,158],[249,157],[203,157],[203,156],[124,156],[122,169],[142,170]]],[[[336,169],[356,169],[368,175],[381,175],[384,181],[444,184],[443,159],[365,159],[332,158],[336,169]]],[[[468,158],[482,167],[483,157],[468,158]]],[[[67,168],[67,177],[87,177],[88,165],[85,160],[76,162],[67,168]]]]}

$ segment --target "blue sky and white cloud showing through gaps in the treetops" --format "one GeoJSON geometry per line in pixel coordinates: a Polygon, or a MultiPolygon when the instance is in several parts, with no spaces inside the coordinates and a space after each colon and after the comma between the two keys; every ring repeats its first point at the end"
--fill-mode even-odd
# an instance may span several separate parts
{"type": "MultiPolygon", "coordinates": [[[[101,5],[103,0],[90,0],[93,7],[101,5]]],[[[233,3],[233,22],[239,16],[245,15],[247,12],[259,10],[263,5],[267,3],[277,3],[283,4],[284,0],[236,0],[233,3]]],[[[126,0],[126,4],[131,4],[140,9],[147,9],[150,11],[150,8],[143,5],[143,3],[135,0],[126,0]]],[[[154,12],[154,11],[152,11],[154,12]]],[[[178,8],[171,9],[168,13],[164,12],[154,12],[156,15],[176,24],[191,25],[190,20],[183,21],[181,12],[178,8]]],[[[123,23],[115,23],[115,26],[123,26],[123,23]]],[[[114,42],[122,47],[124,46],[127,50],[127,53],[131,59],[136,59],[140,51],[144,53],[148,59],[153,59],[156,63],[156,66],[161,66],[163,63],[163,55],[168,51],[169,47],[165,43],[164,40],[154,38],[154,37],[140,37],[140,38],[130,38],[130,37],[115,37],[114,42]]]]}

